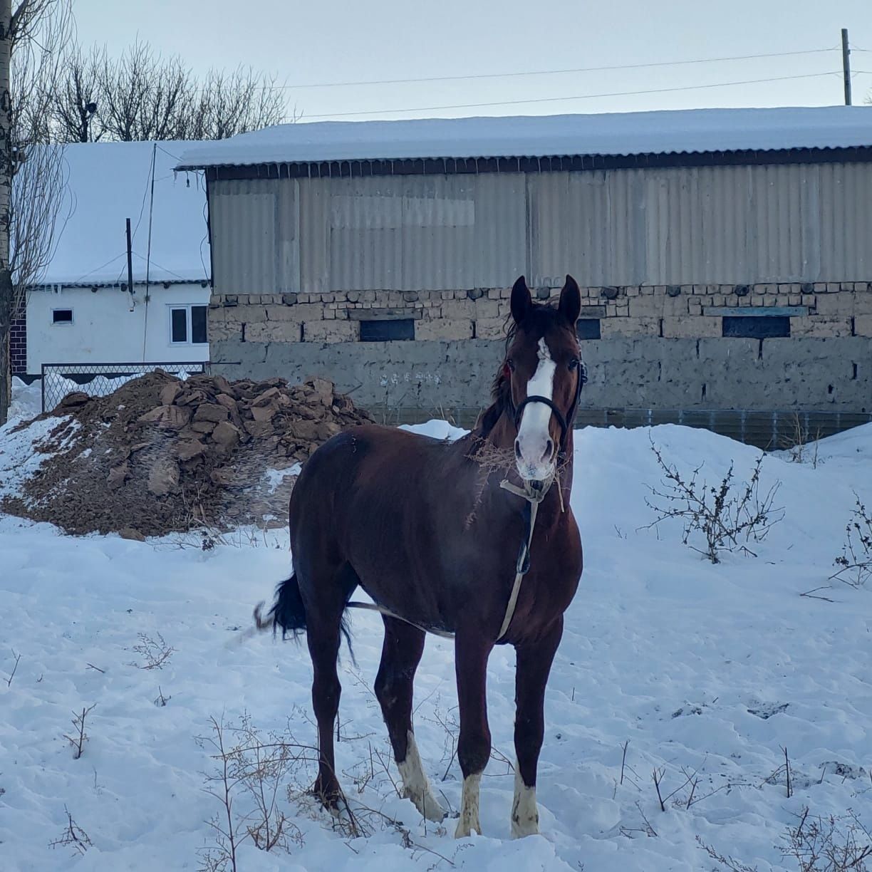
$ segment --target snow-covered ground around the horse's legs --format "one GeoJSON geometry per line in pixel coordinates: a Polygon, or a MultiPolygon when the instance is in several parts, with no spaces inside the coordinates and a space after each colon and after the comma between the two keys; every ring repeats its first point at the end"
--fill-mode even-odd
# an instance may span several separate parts
{"type": "MultiPolygon", "coordinates": [[[[458,433],[439,422],[421,429],[458,433]]],[[[454,841],[453,821],[447,834],[425,827],[392,795],[370,690],[380,620],[363,613],[352,623],[359,668],[345,653],[342,660],[337,761],[352,805],[399,818],[412,846],[390,827],[350,839],[327,815],[280,794],[302,844],[288,856],[247,842],[240,870],[719,868],[698,836],[764,872],[798,868],[779,846],[803,806],[822,815],[853,808],[872,823],[872,591],[819,592],[833,602],[800,596],[828,583],[852,491],[872,501],[872,426],[822,442],[816,468],[767,458],[764,485],[782,482],[784,520],[757,558],[727,555],[719,565],[685,548],[680,528],[644,529],[652,520],[646,485],[660,478],[649,435],[683,471],[703,462],[712,482],[731,460],[745,476],[757,456],[678,426],[576,434],[572,503],[586,568],[548,685],[543,835],[508,840],[513,778],[499,760],[483,781],[480,838],[454,841]],[[789,799],[779,772],[785,747],[789,799]],[[665,812],[655,768],[664,798],[678,788],[665,812]],[[689,807],[685,772],[698,773],[689,807]]],[[[203,790],[214,761],[196,740],[210,735],[209,719],[233,725],[247,712],[264,734],[290,720],[297,740],[314,741],[304,645],[269,635],[235,644],[253,605],[287,573],[286,537],[243,532],[205,552],[186,545],[76,539],[0,516],[0,868],[198,869],[199,849],[214,841],[205,821],[221,811],[203,790]],[[160,670],[141,668],[140,634],[159,633],[174,653],[160,670]],[[161,694],[166,705],[155,704],[161,694]],[[73,712],[92,705],[84,753],[74,759],[65,734],[73,712]],[[84,854],[50,847],[65,830],[65,807],[90,837],[84,854]]],[[[494,651],[488,694],[494,748],[514,760],[510,650],[494,651]]],[[[422,756],[456,809],[460,771],[443,726],[456,718],[456,692],[445,640],[428,640],[416,705],[422,756]]],[[[311,774],[293,779],[305,787],[311,774]]],[[[248,808],[242,797],[236,808],[248,808]]]]}

